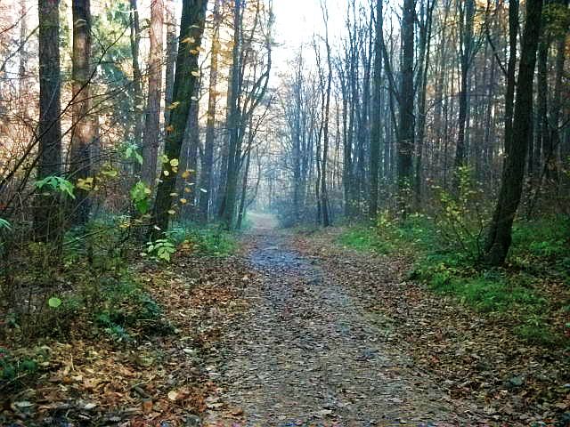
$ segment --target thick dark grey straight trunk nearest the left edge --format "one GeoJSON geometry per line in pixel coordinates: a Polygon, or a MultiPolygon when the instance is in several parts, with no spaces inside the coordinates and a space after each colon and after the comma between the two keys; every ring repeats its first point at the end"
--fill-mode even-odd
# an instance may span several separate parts
{"type": "MultiPolygon", "coordinates": [[[[59,0],[39,0],[39,125],[37,179],[61,174],[61,71],[59,0]]],[[[40,240],[61,237],[58,198],[37,197],[35,231],[40,240]]]]}

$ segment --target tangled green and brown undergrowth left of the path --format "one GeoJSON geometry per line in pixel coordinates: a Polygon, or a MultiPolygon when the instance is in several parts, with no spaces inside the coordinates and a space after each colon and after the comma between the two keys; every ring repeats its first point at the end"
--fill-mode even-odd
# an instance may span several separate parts
{"type": "Polygon", "coordinates": [[[41,372],[48,353],[37,345],[136,345],[173,332],[132,268],[139,244],[122,222],[105,216],[71,229],[59,251],[37,242],[11,246],[0,265],[0,390],[17,390],[41,372]]]}

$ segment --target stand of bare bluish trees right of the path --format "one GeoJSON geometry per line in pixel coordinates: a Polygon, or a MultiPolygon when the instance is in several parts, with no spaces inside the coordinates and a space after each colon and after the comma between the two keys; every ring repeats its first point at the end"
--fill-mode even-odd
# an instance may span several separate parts
{"type": "MultiPolygon", "coordinates": [[[[314,106],[326,93],[327,64],[317,54],[315,72],[299,68],[301,49],[281,80],[281,171],[290,181],[281,199],[285,205],[292,200],[283,222],[306,221],[307,212],[321,222],[320,193],[302,195],[305,179],[320,191],[323,175],[330,182],[331,217],[357,221],[374,220],[380,211],[405,218],[412,206],[436,214],[441,197],[459,201],[485,189],[485,210],[477,212],[485,225],[477,233],[488,239],[480,255],[503,262],[517,206],[535,213],[538,200],[549,197],[546,182],[559,195],[557,177],[568,165],[567,122],[560,116],[568,114],[560,103],[567,90],[560,77],[567,71],[570,14],[566,0],[547,4],[543,12],[535,2],[525,4],[542,26],[536,72],[529,68],[533,26],[519,36],[526,9],[517,1],[347,2],[346,28],[330,49],[331,110],[324,126],[335,144],[327,155],[330,170],[322,173],[324,115],[314,106]],[[401,12],[399,25],[385,19],[395,12],[401,12]],[[525,52],[517,67],[519,40],[525,52]],[[303,141],[313,145],[305,151],[303,141]],[[497,200],[491,218],[486,210],[497,200]]],[[[325,26],[315,37],[322,49],[326,34],[325,26]]],[[[563,207],[559,196],[550,197],[563,207]]]]}

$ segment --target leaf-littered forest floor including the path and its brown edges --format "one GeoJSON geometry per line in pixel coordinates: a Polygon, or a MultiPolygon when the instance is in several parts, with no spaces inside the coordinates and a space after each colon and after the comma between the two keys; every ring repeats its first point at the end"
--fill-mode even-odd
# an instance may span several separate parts
{"type": "Polygon", "coordinates": [[[339,246],[338,229],[254,223],[230,257],[139,269],[174,334],[53,342],[0,424],[567,425],[549,351],[407,281],[405,259],[339,246]]]}

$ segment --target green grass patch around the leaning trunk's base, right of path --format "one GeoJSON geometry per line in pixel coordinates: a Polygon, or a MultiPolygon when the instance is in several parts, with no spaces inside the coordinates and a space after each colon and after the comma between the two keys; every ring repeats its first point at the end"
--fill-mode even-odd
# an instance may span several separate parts
{"type": "Polygon", "coordinates": [[[565,332],[570,324],[553,321],[564,316],[560,307],[565,297],[550,293],[548,286],[553,281],[566,286],[570,282],[569,237],[567,216],[517,222],[503,269],[485,268],[471,250],[477,242],[462,242],[461,247],[469,248],[462,250],[446,239],[438,222],[424,215],[413,215],[403,223],[380,217],[376,227],[346,230],[338,244],[378,254],[407,254],[414,261],[411,278],[475,310],[512,320],[514,332],[527,342],[554,346],[569,343],[565,332]]]}

